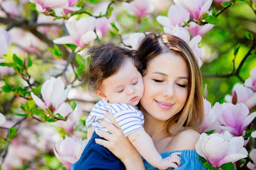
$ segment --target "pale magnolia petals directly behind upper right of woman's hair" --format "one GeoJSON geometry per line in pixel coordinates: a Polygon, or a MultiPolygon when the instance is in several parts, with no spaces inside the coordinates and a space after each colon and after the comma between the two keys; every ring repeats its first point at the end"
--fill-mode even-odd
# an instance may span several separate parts
{"type": "Polygon", "coordinates": [[[201,60],[202,50],[201,50],[201,48],[197,47],[198,43],[202,40],[202,37],[200,35],[197,35],[190,40],[189,31],[187,31],[185,28],[177,26],[177,25],[172,29],[163,27],[163,31],[166,34],[171,34],[171,35],[174,35],[174,36],[179,37],[182,40],[184,40],[189,45],[189,47],[192,49],[193,53],[195,54],[195,58],[197,59],[199,67],[202,66],[202,64],[203,64],[202,60],[201,60]]]}

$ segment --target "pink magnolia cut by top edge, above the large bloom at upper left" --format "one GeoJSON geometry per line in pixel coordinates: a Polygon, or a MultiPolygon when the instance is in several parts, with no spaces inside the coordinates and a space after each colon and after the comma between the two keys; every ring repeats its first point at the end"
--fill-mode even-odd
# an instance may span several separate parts
{"type": "Polygon", "coordinates": [[[68,8],[67,0],[29,0],[35,3],[38,12],[47,12],[52,8],[68,8]]]}

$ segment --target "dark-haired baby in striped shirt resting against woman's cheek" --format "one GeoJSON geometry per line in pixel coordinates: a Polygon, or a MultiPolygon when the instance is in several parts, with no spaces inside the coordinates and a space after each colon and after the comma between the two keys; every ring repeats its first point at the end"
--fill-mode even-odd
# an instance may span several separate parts
{"type": "Polygon", "coordinates": [[[163,159],[143,128],[143,114],[136,106],[144,92],[142,65],[133,53],[128,48],[114,44],[94,47],[88,51],[91,56],[89,90],[102,98],[86,119],[88,138],[92,130],[109,132],[99,122],[101,119],[110,122],[104,116],[108,111],[114,116],[125,137],[148,163],[160,170],[177,168],[177,164],[180,165],[180,152],[163,159]]]}

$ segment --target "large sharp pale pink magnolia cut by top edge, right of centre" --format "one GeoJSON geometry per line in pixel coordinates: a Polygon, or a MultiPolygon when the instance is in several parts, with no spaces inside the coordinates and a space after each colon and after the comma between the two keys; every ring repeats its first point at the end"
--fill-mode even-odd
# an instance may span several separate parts
{"type": "Polygon", "coordinates": [[[212,5],[212,0],[173,0],[179,6],[189,11],[192,18],[199,19],[212,5]]]}

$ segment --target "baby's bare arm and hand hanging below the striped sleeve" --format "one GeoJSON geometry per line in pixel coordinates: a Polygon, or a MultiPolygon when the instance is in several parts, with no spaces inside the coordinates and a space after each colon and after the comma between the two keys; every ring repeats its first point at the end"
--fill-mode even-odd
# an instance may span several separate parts
{"type": "Polygon", "coordinates": [[[162,158],[154,147],[151,137],[143,129],[136,130],[128,135],[128,139],[143,156],[154,167],[160,170],[180,166],[180,152],[175,152],[167,158],[162,158]],[[176,164],[175,164],[176,163],[176,164]],[[178,165],[178,166],[177,166],[178,165]]]}

